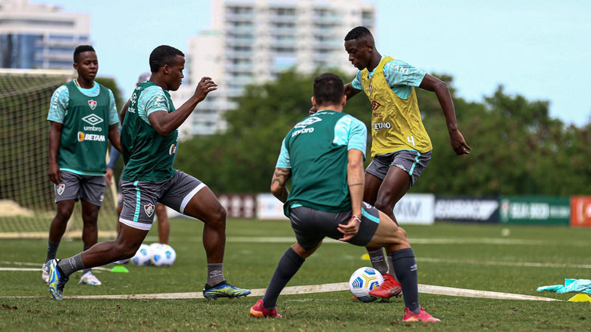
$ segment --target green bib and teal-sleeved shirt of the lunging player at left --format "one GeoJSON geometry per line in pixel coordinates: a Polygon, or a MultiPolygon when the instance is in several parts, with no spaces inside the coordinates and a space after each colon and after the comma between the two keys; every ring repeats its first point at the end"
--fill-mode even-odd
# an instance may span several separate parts
{"type": "Polygon", "coordinates": [[[121,126],[123,180],[161,182],[173,177],[178,132],[160,135],[148,120],[151,113],[161,110],[174,111],[168,92],[152,82],[139,83],[121,126]]]}

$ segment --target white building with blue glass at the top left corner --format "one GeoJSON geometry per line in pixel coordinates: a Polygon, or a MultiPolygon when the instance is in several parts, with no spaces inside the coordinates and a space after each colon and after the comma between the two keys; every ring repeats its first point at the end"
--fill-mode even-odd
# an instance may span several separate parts
{"type": "Polygon", "coordinates": [[[89,43],[87,14],[28,0],[0,0],[0,67],[72,68],[72,54],[89,43]]]}

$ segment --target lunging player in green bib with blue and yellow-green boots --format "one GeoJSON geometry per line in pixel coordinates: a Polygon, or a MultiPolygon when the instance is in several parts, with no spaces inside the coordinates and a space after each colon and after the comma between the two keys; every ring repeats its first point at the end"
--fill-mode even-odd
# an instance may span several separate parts
{"type": "Polygon", "coordinates": [[[217,89],[210,77],[203,77],[193,96],[175,109],[168,91],[180,87],[184,63],[184,54],[167,45],[156,47],[150,54],[150,80],[135,87],[121,128],[125,169],[119,236],[68,259],[50,261],[49,292],[54,299],[61,300],[64,285],[74,271],[134,256],[150,230],[159,201],[204,223],[203,246],[207,255],[204,297],[234,298],[250,294],[248,289],[230,285],[223,276],[226,210],[204,183],[173,168],[178,126],[197,103],[217,89]]]}

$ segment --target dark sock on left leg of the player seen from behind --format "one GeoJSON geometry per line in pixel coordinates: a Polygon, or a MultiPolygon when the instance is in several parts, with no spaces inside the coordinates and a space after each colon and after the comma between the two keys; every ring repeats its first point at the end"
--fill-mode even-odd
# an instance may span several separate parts
{"type": "Polygon", "coordinates": [[[267,291],[265,291],[265,296],[262,297],[265,308],[268,310],[275,308],[279,293],[281,293],[281,290],[287,285],[291,277],[300,269],[304,261],[305,259],[301,258],[291,247],[285,251],[279,263],[277,263],[277,268],[271,278],[271,282],[269,282],[267,291]]]}

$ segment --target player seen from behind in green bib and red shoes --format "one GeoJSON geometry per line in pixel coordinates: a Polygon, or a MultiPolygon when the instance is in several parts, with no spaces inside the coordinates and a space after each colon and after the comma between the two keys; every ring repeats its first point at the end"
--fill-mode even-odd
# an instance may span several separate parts
{"type": "Polygon", "coordinates": [[[318,112],[297,123],[281,144],[271,192],[284,203],[297,243],[285,251],[253,317],[281,317],[281,290],[324,237],[353,245],[386,248],[404,293],[404,321],[437,322],[418,303],[417,264],[406,233],[387,214],[363,202],[367,130],[343,114],[343,81],[331,73],[314,79],[318,112]],[[291,192],[285,184],[292,178],[291,192]]]}

